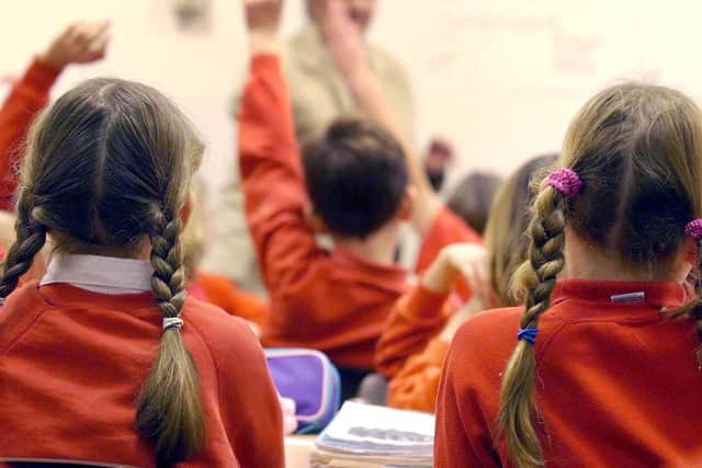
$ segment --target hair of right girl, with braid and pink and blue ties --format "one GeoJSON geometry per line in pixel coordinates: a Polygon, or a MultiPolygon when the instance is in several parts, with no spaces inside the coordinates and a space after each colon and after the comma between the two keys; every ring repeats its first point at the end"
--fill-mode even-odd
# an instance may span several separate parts
{"type": "MultiPolygon", "coordinates": [[[[565,264],[566,225],[632,269],[655,272],[670,265],[686,225],[702,215],[701,117],[683,94],[636,83],[609,88],[580,110],[559,159],[581,181],[579,191],[557,190],[550,179],[534,199],[528,261],[516,278],[525,292],[522,330],[535,333],[550,307],[565,264]]],[[[543,463],[532,421],[534,374],[533,344],[520,340],[503,374],[498,421],[517,466],[543,463]]]]}

